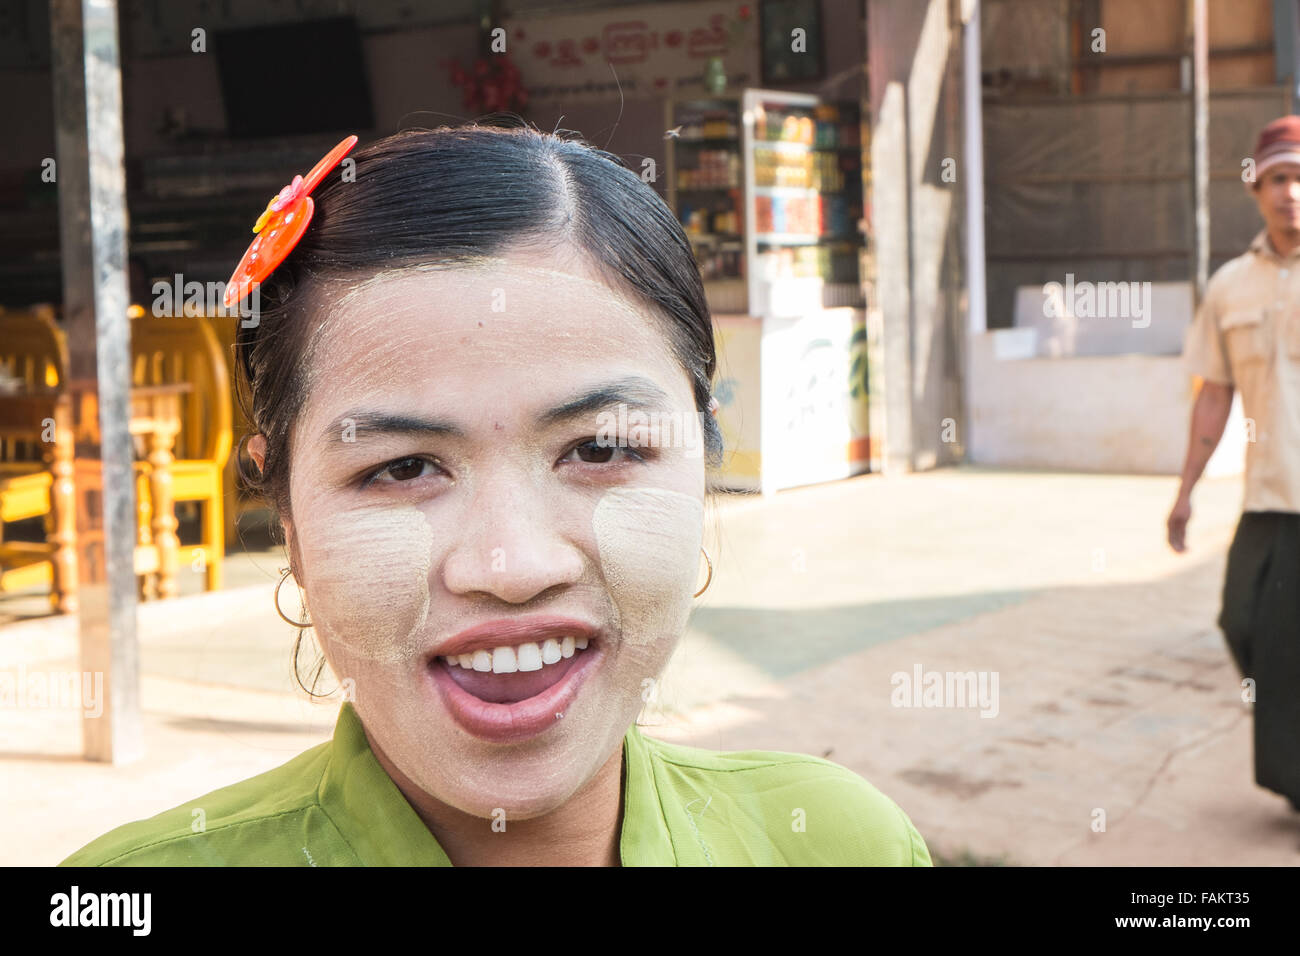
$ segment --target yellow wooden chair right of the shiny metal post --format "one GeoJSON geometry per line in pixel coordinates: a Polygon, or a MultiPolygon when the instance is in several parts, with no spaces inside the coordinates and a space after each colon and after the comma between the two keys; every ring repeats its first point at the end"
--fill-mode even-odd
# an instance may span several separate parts
{"type": "MultiPolygon", "coordinates": [[[[182,557],[202,554],[205,587],[221,587],[225,558],[222,471],[230,458],[230,373],[209,320],[202,315],[153,316],[131,312],[131,382],[190,382],[181,399],[181,433],[176,440],[172,486],[176,501],[202,506],[202,540],[182,545],[182,557]]],[[[140,462],[139,470],[148,464],[140,462]]],[[[185,562],[182,561],[182,566],[185,562]]]]}

